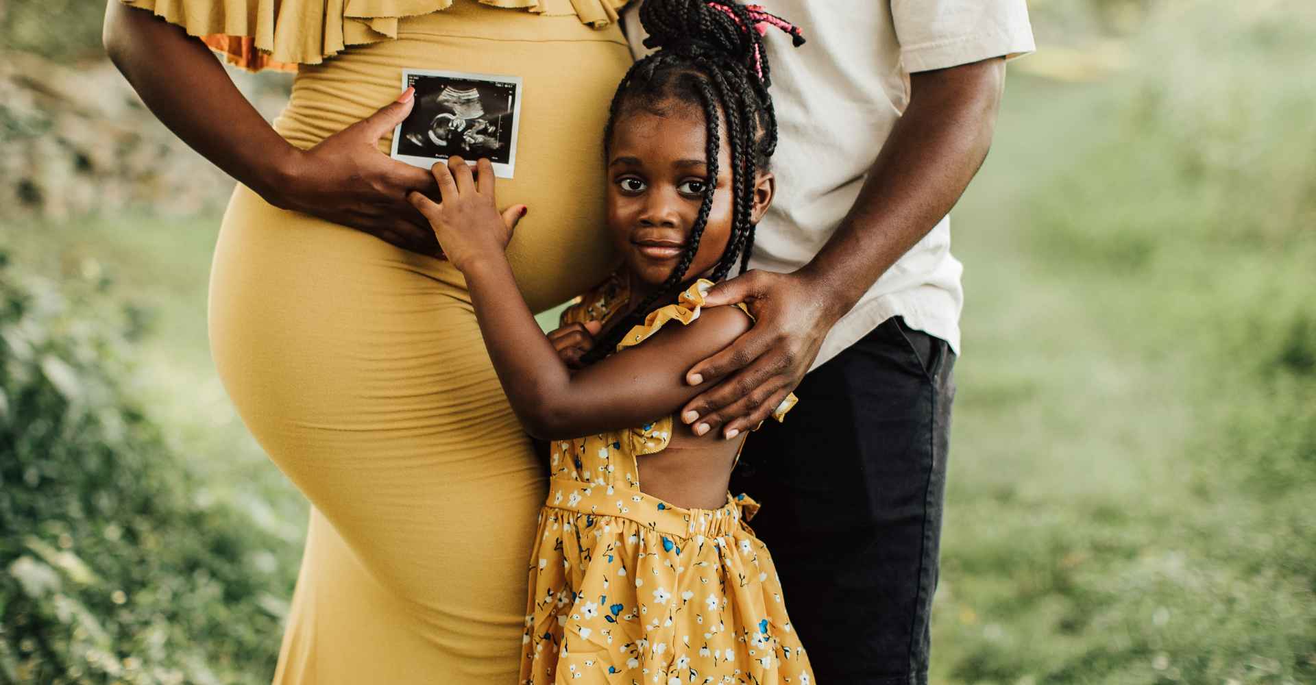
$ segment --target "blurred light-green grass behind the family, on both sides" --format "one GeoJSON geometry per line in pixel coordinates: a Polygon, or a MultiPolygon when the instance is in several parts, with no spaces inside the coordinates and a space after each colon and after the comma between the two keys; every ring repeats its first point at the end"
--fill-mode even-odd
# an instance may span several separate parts
{"type": "MultiPolygon", "coordinates": [[[[1274,5],[1170,5],[1095,83],[1012,67],[953,218],[969,301],[936,682],[1316,681],[1316,93],[1298,78],[1316,24],[1274,5]]],[[[217,225],[0,239],[154,312],[141,392],[291,550],[304,504],[205,351],[217,225]]]]}

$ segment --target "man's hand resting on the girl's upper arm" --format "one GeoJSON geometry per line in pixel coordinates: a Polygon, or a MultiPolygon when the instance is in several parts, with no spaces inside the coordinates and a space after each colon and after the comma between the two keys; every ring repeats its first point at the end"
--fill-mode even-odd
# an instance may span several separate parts
{"type": "Polygon", "coordinates": [[[721,352],[695,364],[686,383],[721,381],[680,412],[696,435],[754,429],[800,384],[822,338],[840,318],[834,302],[800,272],[750,271],[715,285],[704,306],[745,302],[754,327],[721,352]]]}

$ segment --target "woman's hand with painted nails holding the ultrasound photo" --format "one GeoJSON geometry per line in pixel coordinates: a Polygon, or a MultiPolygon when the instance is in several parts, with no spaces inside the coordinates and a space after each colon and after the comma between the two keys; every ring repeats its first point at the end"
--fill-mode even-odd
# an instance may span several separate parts
{"type": "Polygon", "coordinates": [[[417,191],[437,197],[429,171],[379,151],[379,139],[407,118],[416,104],[408,88],[397,101],[295,151],[282,177],[258,189],[270,204],[368,233],[403,250],[442,256],[429,222],[407,201],[417,191]]]}

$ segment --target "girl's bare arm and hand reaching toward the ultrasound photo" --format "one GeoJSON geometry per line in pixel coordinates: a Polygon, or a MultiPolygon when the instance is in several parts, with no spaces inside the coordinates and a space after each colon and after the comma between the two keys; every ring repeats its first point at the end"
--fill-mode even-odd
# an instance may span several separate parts
{"type": "Polygon", "coordinates": [[[671,414],[703,387],[686,384],[690,364],[749,330],[737,308],[705,309],[690,325],[669,325],[644,344],[575,373],[558,356],[521,298],[503,251],[522,205],[499,216],[494,168],[479,162],[479,181],[461,158],[434,166],[442,204],[412,193],[449,260],[466,276],[484,346],[526,433],[561,439],[620,430],[671,414]]]}

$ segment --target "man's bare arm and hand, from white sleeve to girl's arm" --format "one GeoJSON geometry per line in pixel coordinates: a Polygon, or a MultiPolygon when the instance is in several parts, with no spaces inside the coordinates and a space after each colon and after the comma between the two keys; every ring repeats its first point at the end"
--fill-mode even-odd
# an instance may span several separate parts
{"type": "Polygon", "coordinates": [[[750,271],[708,293],[746,302],[757,323],[695,364],[687,383],[720,379],[682,409],[703,435],[744,433],[799,385],[832,326],[945,217],[987,158],[1005,59],[911,75],[909,106],[891,130],[836,234],[794,273],[750,271]]]}

